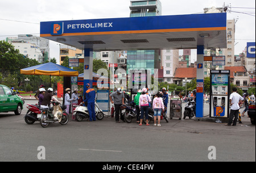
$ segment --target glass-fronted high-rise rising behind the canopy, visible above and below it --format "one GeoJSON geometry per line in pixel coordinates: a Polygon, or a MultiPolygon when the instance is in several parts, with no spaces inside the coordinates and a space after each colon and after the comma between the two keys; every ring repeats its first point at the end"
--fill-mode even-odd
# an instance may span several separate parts
{"type": "MultiPolygon", "coordinates": [[[[130,17],[162,15],[162,4],[159,0],[130,0],[130,17]]],[[[129,69],[160,69],[161,50],[127,51],[127,73],[129,69]]]]}

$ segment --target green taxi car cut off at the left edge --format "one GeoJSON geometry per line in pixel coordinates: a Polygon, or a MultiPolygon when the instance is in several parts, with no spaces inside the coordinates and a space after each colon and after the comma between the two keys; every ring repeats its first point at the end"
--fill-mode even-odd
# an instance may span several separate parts
{"type": "Polygon", "coordinates": [[[14,111],[15,115],[20,115],[22,109],[22,99],[9,87],[0,85],[0,112],[14,111]]]}

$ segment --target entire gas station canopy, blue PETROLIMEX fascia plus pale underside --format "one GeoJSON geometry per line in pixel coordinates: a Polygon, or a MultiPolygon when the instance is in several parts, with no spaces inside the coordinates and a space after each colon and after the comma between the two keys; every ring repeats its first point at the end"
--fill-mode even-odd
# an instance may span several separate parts
{"type": "Polygon", "coordinates": [[[226,13],[41,22],[40,36],[94,51],[226,48],[226,13]]]}

